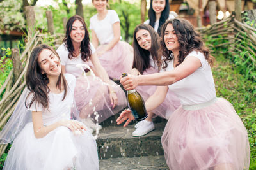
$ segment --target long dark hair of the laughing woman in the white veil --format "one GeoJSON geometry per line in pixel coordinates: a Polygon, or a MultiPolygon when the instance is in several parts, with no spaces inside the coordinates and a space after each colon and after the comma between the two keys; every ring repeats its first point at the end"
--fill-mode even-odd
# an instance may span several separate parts
{"type": "MultiPolygon", "coordinates": [[[[46,74],[41,73],[41,69],[38,64],[38,56],[44,49],[51,50],[52,53],[54,53],[54,55],[56,55],[60,60],[58,53],[56,53],[56,51],[49,45],[39,45],[33,49],[29,59],[28,70],[26,72],[26,86],[30,91],[29,95],[26,98],[27,108],[30,108],[33,102],[41,103],[42,106],[44,106],[44,108],[48,108],[49,106],[48,93],[50,89],[47,86],[47,84],[49,83],[49,79],[47,78],[46,74]],[[29,103],[27,103],[28,97],[31,94],[33,94],[32,100],[29,103]]],[[[60,90],[61,90],[61,81],[63,81],[63,85],[64,85],[64,96],[62,99],[64,100],[67,95],[67,81],[62,72],[56,83],[56,87],[60,90]]]]}

